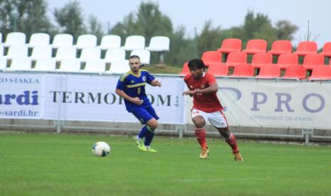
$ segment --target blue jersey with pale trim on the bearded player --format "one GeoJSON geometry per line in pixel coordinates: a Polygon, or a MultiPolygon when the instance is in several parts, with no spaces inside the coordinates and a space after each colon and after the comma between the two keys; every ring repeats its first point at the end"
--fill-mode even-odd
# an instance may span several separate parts
{"type": "Polygon", "coordinates": [[[129,71],[120,77],[117,82],[116,89],[120,89],[130,97],[139,97],[143,100],[143,104],[138,105],[124,99],[125,107],[127,111],[132,111],[135,107],[149,107],[151,103],[146,96],[145,86],[150,84],[155,78],[147,72],[147,70],[138,70],[138,75],[134,75],[132,71],[129,71]]]}

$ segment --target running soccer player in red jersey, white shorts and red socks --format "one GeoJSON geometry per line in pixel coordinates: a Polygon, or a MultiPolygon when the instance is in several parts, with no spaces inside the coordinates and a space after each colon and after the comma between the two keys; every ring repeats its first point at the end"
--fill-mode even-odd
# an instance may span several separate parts
{"type": "Polygon", "coordinates": [[[204,129],[206,122],[209,121],[231,146],[234,160],[243,161],[236,138],[228,130],[228,123],[222,111],[223,107],[216,96],[219,86],[214,75],[204,72],[204,62],[201,59],[190,60],[189,71],[191,74],[184,77],[184,82],[189,90],[183,92],[183,95],[193,97],[191,117],[195,126],[194,134],[201,146],[200,158],[206,159],[209,155],[204,129]]]}

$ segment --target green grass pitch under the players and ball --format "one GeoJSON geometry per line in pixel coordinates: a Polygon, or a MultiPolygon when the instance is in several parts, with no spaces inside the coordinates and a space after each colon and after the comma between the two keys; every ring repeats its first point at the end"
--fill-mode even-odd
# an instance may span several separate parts
{"type": "Polygon", "coordinates": [[[157,153],[132,136],[0,134],[0,195],[330,195],[330,146],[238,140],[243,163],[223,139],[199,159],[194,138],[155,136],[157,153]],[[110,156],[91,146],[106,141],[110,156]]]}

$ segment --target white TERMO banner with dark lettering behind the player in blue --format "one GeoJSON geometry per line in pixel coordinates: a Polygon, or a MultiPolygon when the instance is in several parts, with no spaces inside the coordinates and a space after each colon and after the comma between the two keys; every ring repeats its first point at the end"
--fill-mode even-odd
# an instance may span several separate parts
{"type": "MultiPolygon", "coordinates": [[[[137,122],[115,94],[120,75],[45,75],[44,119],[137,122]]],[[[159,122],[184,124],[184,89],[177,77],[157,78],[162,87],[147,85],[146,92],[159,122]]]]}

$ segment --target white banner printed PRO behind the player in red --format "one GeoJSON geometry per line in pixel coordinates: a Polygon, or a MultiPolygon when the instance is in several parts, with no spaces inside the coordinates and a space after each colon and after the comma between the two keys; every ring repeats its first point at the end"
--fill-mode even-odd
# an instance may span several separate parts
{"type": "Polygon", "coordinates": [[[218,78],[232,126],[331,129],[331,83],[218,78]]]}

